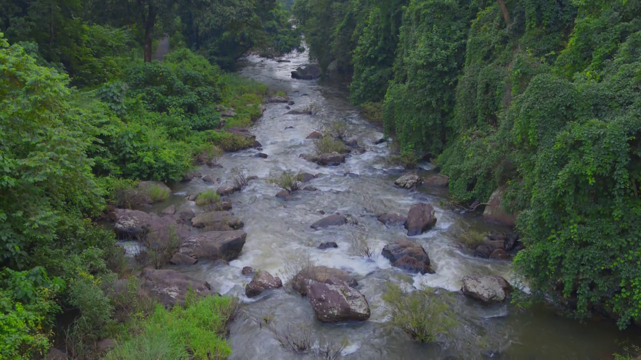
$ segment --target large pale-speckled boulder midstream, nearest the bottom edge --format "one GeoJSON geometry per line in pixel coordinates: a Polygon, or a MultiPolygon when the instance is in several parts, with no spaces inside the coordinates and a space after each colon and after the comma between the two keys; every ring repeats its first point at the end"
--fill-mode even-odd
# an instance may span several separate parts
{"type": "Polygon", "coordinates": [[[365,321],[371,313],[363,294],[340,280],[312,282],[307,297],[321,322],[365,321]]]}

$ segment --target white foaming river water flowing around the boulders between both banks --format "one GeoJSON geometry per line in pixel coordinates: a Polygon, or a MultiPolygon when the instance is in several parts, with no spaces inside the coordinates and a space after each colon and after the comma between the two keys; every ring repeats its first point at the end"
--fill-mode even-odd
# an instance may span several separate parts
{"type": "MultiPolygon", "coordinates": [[[[179,208],[195,208],[185,195],[231,184],[233,168],[258,176],[242,192],[231,195],[233,212],[244,220],[247,242],[240,258],[229,266],[198,263],[176,270],[205,279],[219,293],[241,299],[240,315],[231,323],[230,359],[306,359],[313,355],[296,354],[281,347],[276,334],[292,331],[312,334],[314,341],[340,343],[345,359],[473,359],[491,356],[501,359],[608,359],[622,344],[637,341],[638,333],[618,332],[610,322],[578,323],[557,315],[544,306],[519,309],[510,304],[485,307],[465,299],[458,291],[464,275],[501,275],[513,279],[509,262],[474,258],[472,252],[457,243],[460,231],[492,229],[471,215],[461,215],[440,206],[447,190],[420,189],[417,192],[393,186],[403,170],[390,165],[385,143],[374,145],[383,135],[381,129],[365,122],[347,101],[344,85],[294,80],[290,71],[307,63],[306,54],[292,56],[290,63],[278,63],[250,56],[242,61],[240,72],[269,86],[270,91],[286,92],[296,104],[292,109],[315,104],[315,115],[285,115],[285,104],[267,104],[262,119],[251,131],[262,143],[269,158],[256,158],[256,150],[225,154],[222,168],[203,168],[220,180],[205,184],[199,179],[174,187],[171,201],[179,208]],[[305,140],[312,131],[333,120],[344,120],[354,138],[367,152],[354,154],[338,167],[317,167],[299,158],[313,153],[313,141],[305,140]],[[293,127],[293,128],[287,128],[293,127]],[[279,189],[268,179],[283,170],[323,174],[310,184],[317,192],[297,192],[294,200],[284,202],[274,197],[279,189]],[[385,227],[373,215],[383,212],[406,214],[419,201],[436,208],[437,225],[417,236],[428,251],[437,274],[410,275],[392,268],[380,256],[383,245],[405,237],[401,227],[385,227]],[[344,225],[313,231],[310,224],[324,217],[322,212],[346,213],[358,218],[358,225],[344,225]],[[354,239],[369,239],[377,252],[366,259],[353,252],[354,239]],[[317,245],[335,241],[338,249],[318,250],[317,245]],[[372,316],[363,323],[328,325],[317,322],[306,298],[280,289],[247,299],[244,286],[250,280],[240,274],[243,266],[267,270],[283,281],[290,276],[287,268],[312,259],[317,265],[347,270],[359,282],[358,290],[369,301],[372,316]],[[434,286],[453,291],[453,306],[459,326],[454,339],[422,345],[387,323],[381,294],[388,281],[403,284],[406,290],[434,286]],[[492,350],[493,352],[487,352],[492,350]],[[484,355],[483,352],[485,352],[484,355]]],[[[429,165],[424,165],[429,172],[429,165]]],[[[167,206],[167,203],[163,204],[167,206]]],[[[495,227],[494,227],[495,229],[495,227]]]]}

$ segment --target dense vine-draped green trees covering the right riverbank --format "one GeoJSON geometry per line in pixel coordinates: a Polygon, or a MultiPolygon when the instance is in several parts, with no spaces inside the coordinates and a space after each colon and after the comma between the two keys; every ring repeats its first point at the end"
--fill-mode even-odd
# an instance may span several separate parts
{"type": "Polygon", "coordinates": [[[515,268],[538,294],[641,311],[641,2],[296,0],[310,56],[350,78],[405,163],[451,196],[497,189],[518,213],[515,268]]]}

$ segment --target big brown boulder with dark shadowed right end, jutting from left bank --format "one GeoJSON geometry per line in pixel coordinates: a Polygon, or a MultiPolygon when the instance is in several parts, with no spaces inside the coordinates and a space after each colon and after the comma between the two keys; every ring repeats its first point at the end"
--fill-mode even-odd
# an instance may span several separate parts
{"type": "Polygon", "coordinates": [[[231,261],[238,258],[245,245],[247,233],[235,231],[207,231],[185,239],[179,252],[196,259],[231,261]]]}

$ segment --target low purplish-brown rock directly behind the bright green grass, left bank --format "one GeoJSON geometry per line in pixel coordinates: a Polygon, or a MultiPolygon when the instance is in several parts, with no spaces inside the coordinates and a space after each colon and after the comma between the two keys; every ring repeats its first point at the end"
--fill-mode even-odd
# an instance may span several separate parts
{"type": "Polygon", "coordinates": [[[138,277],[141,280],[140,288],[165,307],[185,304],[185,296],[189,290],[195,291],[199,296],[213,295],[212,286],[208,282],[174,270],[144,268],[138,277]]]}

